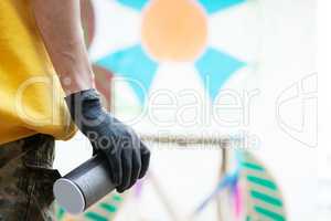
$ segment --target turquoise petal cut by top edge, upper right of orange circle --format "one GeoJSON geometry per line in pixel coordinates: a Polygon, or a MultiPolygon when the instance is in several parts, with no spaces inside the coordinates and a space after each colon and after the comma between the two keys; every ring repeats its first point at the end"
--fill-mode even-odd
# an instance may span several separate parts
{"type": "Polygon", "coordinates": [[[245,2],[246,0],[199,0],[207,13],[215,13],[229,7],[245,2]]]}

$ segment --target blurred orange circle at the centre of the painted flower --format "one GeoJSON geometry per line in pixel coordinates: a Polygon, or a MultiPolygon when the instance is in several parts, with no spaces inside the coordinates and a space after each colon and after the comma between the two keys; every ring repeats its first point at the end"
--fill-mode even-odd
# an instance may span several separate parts
{"type": "Polygon", "coordinates": [[[192,61],[203,51],[207,22],[193,0],[152,0],[142,18],[142,45],[159,61],[192,61]]]}

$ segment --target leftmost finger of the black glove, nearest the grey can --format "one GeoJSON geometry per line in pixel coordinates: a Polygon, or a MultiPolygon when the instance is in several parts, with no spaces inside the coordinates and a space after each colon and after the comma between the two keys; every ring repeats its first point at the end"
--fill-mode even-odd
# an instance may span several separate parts
{"type": "Polygon", "coordinates": [[[125,190],[127,190],[131,182],[131,173],[132,173],[131,149],[126,149],[121,152],[121,168],[122,168],[122,179],[120,185],[116,188],[118,192],[124,192],[125,190]]]}

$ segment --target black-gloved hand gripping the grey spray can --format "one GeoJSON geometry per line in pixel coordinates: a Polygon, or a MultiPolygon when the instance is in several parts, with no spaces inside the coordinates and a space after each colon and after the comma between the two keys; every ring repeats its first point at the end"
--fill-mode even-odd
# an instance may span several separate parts
{"type": "Polygon", "coordinates": [[[150,159],[150,151],[137,134],[102,107],[96,90],[82,91],[65,99],[73,120],[92,143],[94,154],[107,157],[117,191],[132,187],[146,175],[150,159]]]}

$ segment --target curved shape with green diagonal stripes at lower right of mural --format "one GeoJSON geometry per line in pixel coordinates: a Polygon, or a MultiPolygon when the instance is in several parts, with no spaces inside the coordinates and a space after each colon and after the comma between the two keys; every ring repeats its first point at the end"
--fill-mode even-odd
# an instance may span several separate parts
{"type": "Polygon", "coordinates": [[[282,196],[269,170],[250,152],[241,152],[239,182],[246,221],[286,221],[282,196]]]}

